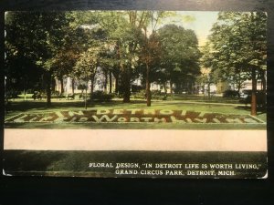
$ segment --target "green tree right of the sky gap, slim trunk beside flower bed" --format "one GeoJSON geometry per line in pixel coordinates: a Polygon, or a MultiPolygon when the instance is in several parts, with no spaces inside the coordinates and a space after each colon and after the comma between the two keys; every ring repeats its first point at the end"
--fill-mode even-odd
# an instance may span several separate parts
{"type": "Polygon", "coordinates": [[[265,82],[267,60],[267,15],[262,12],[221,12],[209,36],[204,65],[223,78],[240,84],[252,81],[251,115],[257,115],[257,81],[265,82]],[[214,60],[212,60],[214,59],[214,60]]]}

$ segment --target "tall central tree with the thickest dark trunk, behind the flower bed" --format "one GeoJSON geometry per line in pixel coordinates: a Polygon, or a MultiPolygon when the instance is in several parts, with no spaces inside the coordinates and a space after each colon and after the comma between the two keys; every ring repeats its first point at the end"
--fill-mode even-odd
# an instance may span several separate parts
{"type": "MultiPolygon", "coordinates": [[[[145,20],[145,12],[121,11],[98,12],[98,22],[109,34],[108,41],[115,42],[116,60],[120,71],[113,72],[119,76],[120,92],[123,102],[130,102],[132,74],[139,64],[141,45],[144,41],[142,27],[145,20]]],[[[115,64],[114,64],[115,65],[115,64]]]]}

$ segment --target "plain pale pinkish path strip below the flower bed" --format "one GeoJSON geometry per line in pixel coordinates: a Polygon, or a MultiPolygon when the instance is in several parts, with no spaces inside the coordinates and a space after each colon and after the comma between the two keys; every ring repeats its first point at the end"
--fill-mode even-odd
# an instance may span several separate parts
{"type": "Polygon", "coordinates": [[[267,151],[267,130],[5,128],[4,149],[267,151]]]}

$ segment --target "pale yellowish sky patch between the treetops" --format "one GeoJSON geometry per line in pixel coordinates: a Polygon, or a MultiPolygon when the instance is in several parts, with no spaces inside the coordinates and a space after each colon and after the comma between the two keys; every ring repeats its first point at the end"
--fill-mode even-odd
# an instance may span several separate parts
{"type": "Polygon", "coordinates": [[[199,46],[204,46],[206,37],[210,34],[210,29],[216,23],[218,12],[196,12],[196,11],[180,11],[177,14],[182,18],[174,17],[166,19],[163,24],[172,23],[183,26],[185,29],[192,29],[199,41],[199,46]]]}

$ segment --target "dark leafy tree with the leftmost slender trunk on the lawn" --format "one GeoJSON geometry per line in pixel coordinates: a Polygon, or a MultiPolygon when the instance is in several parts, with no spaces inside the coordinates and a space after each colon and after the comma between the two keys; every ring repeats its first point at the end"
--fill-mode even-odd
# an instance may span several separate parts
{"type": "Polygon", "coordinates": [[[69,21],[65,13],[8,12],[6,26],[10,44],[44,69],[47,81],[47,105],[51,102],[52,58],[64,43],[69,21]]]}

